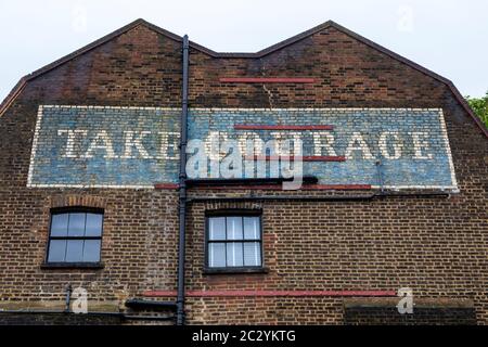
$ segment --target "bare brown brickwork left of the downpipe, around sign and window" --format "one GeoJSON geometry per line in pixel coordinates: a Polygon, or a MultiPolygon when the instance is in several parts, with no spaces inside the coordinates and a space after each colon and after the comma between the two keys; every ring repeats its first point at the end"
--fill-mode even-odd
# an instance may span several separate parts
{"type": "Polygon", "coordinates": [[[147,286],[176,287],[177,192],[27,189],[39,104],[170,105],[181,99],[180,44],[145,27],[29,81],[0,119],[0,295],[4,300],[64,300],[65,284],[94,301],[121,300],[147,286]],[[70,196],[70,197],[69,197],[70,196]],[[81,201],[70,203],[82,196],[81,201]],[[105,209],[102,270],[41,269],[49,210],[105,209]]]}

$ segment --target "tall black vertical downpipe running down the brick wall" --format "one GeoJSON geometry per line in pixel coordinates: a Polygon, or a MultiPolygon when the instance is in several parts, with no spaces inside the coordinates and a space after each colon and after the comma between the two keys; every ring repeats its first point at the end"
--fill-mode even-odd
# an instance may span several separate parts
{"type": "Polygon", "coordinates": [[[183,37],[183,93],[180,131],[180,175],[179,175],[179,241],[178,241],[178,297],[177,325],[184,324],[184,247],[187,229],[187,142],[188,142],[188,70],[189,40],[183,37]]]}

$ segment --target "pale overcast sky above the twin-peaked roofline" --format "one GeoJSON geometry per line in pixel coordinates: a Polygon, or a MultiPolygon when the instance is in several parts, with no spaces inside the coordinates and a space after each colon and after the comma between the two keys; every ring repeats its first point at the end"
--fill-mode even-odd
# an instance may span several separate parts
{"type": "Polygon", "coordinates": [[[454,81],[488,90],[488,1],[0,0],[0,99],[17,80],[142,17],[220,52],[255,52],[328,20],[454,81]]]}

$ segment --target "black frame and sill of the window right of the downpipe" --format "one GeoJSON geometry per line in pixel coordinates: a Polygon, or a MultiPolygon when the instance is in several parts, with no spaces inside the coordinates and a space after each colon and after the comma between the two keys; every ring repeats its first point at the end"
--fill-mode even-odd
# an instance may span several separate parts
{"type": "MultiPolygon", "coordinates": [[[[244,232],[244,230],[243,230],[244,232]]],[[[264,230],[262,230],[262,210],[261,209],[224,209],[224,210],[208,210],[205,213],[205,261],[204,261],[204,274],[214,273],[267,273],[268,269],[265,267],[265,253],[264,253],[264,230]],[[245,240],[237,239],[229,241],[227,239],[227,221],[226,221],[226,240],[210,240],[209,218],[218,217],[258,217],[259,218],[259,240],[245,240]],[[241,267],[210,267],[209,266],[209,244],[210,243],[246,243],[246,242],[259,242],[260,265],[259,266],[243,266],[241,267]]],[[[244,234],[243,234],[244,237],[244,234]]],[[[244,252],[243,252],[244,257],[244,252]]],[[[227,264],[227,256],[226,256],[227,264]]]]}

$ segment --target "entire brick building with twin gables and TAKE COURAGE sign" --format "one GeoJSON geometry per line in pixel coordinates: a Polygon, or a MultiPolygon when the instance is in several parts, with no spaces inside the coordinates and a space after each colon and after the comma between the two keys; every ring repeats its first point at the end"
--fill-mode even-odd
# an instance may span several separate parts
{"type": "Polygon", "coordinates": [[[333,22],[184,42],[138,20],[1,104],[1,323],[488,323],[488,132],[452,82],[333,22]],[[303,185],[185,177],[187,134],[299,140],[303,185]]]}

